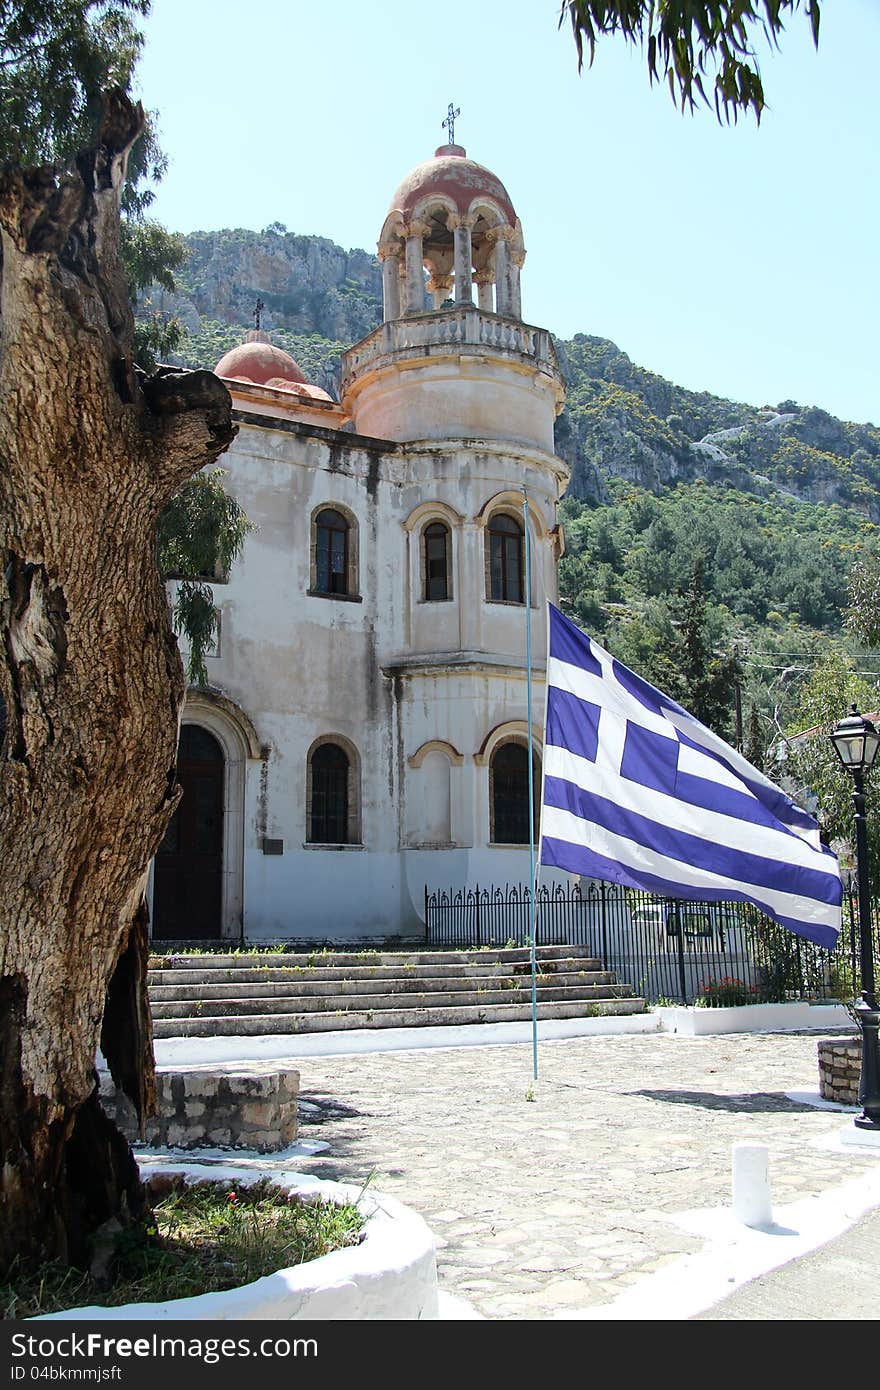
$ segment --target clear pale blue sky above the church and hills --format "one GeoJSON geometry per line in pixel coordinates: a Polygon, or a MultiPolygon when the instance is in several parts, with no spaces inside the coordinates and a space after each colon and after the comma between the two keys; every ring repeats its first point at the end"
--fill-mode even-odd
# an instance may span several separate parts
{"type": "Polygon", "coordinates": [[[170,157],[154,214],[375,250],[403,175],[456,142],[523,224],[523,317],[751,404],[880,424],[880,4],[826,0],[769,108],[719,125],[603,39],[578,75],[556,0],[153,0],[140,96],[170,157]]]}

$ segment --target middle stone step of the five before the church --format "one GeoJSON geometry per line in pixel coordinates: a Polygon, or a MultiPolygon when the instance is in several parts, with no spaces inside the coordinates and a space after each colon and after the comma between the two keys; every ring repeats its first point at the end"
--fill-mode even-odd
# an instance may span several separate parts
{"type": "MultiPolygon", "coordinates": [[[[560,962],[562,963],[562,962],[560,962]]],[[[455,972],[455,966],[446,967],[455,972]]],[[[195,972],[181,972],[195,974],[192,980],[174,980],[150,984],[150,999],[153,1004],[168,1004],[177,999],[274,999],[292,994],[298,997],[345,995],[345,994],[410,994],[432,991],[468,991],[474,988],[510,990],[524,988],[531,980],[531,972],[506,973],[498,967],[481,974],[460,974],[421,970],[398,972],[389,966],[386,972],[370,973],[364,977],[360,970],[329,972],[327,979],[324,970],[313,970],[302,974],[285,974],[279,977],[272,972],[270,980],[266,973],[250,972],[249,979],[227,980],[225,973],[221,983],[214,983],[214,976],[206,977],[195,972]],[[250,976],[256,976],[252,979],[250,976]],[[481,981],[485,981],[481,986],[481,981]]],[[[581,988],[594,984],[614,984],[616,977],[610,970],[545,970],[538,972],[538,988],[545,990],[551,984],[553,988],[581,988]]]]}

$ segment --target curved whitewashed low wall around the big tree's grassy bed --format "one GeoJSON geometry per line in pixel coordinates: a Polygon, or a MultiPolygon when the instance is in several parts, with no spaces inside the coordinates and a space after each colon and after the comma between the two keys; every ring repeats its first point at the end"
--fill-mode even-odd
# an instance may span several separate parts
{"type": "MultiPolygon", "coordinates": [[[[327,1183],[302,1173],[243,1170],[232,1165],[192,1163],[142,1166],[150,1172],[185,1173],[200,1182],[246,1183],[268,1179],[302,1193],[303,1197],[335,1202],[359,1201],[359,1188],[327,1183]]],[[[50,1319],[113,1322],[135,1319],[167,1320],[367,1320],[434,1319],[438,1316],[437,1257],[434,1236],[421,1216],[377,1193],[359,1201],[366,1216],[364,1238],[359,1245],[321,1255],[306,1265],[279,1269],[241,1289],[174,1298],[168,1302],[124,1304],[120,1308],[72,1308],[47,1314],[50,1319]]],[[[39,1319],[43,1320],[43,1319],[39,1319]]]]}

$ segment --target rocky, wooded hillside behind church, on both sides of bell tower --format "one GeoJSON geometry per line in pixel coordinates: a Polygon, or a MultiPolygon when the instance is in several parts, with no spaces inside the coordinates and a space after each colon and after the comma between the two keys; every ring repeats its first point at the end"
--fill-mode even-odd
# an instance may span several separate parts
{"type": "MultiPolygon", "coordinates": [[[[213,367],[260,297],[272,341],[336,393],[342,352],[381,318],[375,257],[279,224],[185,240],[178,293],[150,304],[184,324],[181,359],[213,367]]],[[[556,446],[571,466],[563,603],[728,737],[740,687],[742,741],[760,760],[797,726],[816,671],[847,660],[847,575],[880,548],[880,430],[687,391],[605,338],[556,346],[556,446]]],[[[849,664],[873,687],[873,656],[849,664]]]]}

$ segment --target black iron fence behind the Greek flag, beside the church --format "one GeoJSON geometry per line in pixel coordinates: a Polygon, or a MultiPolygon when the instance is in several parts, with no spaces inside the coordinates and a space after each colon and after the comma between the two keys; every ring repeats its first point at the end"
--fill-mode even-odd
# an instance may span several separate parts
{"type": "MultiPolygon", "coordinates": [[[[872,920],[880,963],[877,905],[872,920]]],[[[432,947],[525,945],[531,891],[524,884],[425,888],[425,930],[432,947]]],[[[827,951],[751,903],[683,902],[608,883],[553,883],[538,888],[535,940],[588,948],[602,969],[655,1004],[852,999],[861,990],[855,894],[844,902],[837,947],[827,951]]]]}

